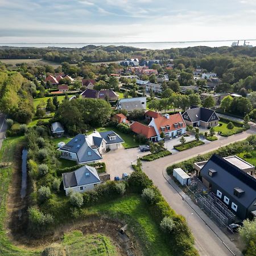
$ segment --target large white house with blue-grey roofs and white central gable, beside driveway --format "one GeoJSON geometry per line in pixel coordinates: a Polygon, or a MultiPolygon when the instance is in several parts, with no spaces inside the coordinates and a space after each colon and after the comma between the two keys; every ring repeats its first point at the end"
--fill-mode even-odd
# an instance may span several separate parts
{"type": "Polygon", "coordinates": [[[106,150],[116,150],[123,142],[114,131],[94,131],[90,135],[77,134],[58,150],[61,151],[61,158],[76,161],[77,164],[95,163],[102,159],[106,150]]]}

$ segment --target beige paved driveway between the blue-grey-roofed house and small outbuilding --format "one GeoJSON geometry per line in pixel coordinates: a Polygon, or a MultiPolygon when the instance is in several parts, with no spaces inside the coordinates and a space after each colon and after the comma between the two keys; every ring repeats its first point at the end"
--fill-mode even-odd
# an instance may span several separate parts
{"type": "Polygon", "coordinates": [[[106,164],[106,170],[110,174],[110,179],[115,176],[122,177],[123,172],[131,174],[133,168],[131,163],[135,164],[138,157],[150,154],[150,152],[141,152],[139,148],[119,148],[118,150],[110,150],[103,155],[103,161],[106,164]]]}

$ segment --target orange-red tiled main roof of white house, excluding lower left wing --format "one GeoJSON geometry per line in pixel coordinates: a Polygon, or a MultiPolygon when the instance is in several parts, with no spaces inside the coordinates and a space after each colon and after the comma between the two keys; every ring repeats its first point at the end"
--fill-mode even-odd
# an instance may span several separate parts
{"type": "Polygon", "coordinates": [[[161,127],[165,127],[167,125],[170,125],[170,130],[165,131],[174,131],[177,129],[180,129],[181,127],[186,127],[185,122],[183,121],[183,118],[181,114],[177,113],[174,115],[170,115],[169,119],[166,117],[158,117],[155,118],[155,125],[158,127],[159,133],[162,133],[161,127]],[[177,128],[174,127],[174,123],[183,123],[183,126],[178,126],[177,128]]]}

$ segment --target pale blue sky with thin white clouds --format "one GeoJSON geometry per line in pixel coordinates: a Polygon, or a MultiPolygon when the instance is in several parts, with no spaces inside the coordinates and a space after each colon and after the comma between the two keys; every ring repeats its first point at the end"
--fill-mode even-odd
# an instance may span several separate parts
{"type": "Polygon", "coordinates": [[[256,0],[0,0],[0,43],[256,39],[256,0]]]}

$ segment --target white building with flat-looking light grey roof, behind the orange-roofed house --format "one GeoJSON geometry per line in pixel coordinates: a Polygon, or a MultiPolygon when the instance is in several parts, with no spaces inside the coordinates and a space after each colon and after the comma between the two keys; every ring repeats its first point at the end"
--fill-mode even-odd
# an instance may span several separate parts
{"type": "Polygon", "coordinates": [[[121,98],[121,100],[117,102],[117,109],[125,109],[128,112],[133,111],[135,109],[146,110],[146,103],[146,97],[121,98]]]}

